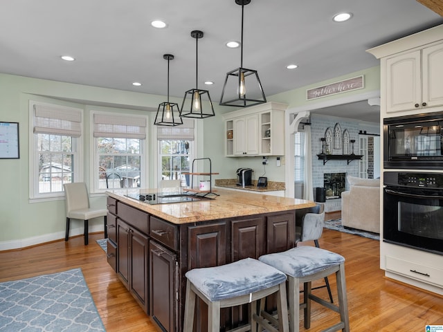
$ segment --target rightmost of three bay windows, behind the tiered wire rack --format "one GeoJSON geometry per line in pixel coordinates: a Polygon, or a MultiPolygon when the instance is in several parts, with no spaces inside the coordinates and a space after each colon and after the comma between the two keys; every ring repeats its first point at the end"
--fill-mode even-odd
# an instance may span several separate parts
{"type": "Polygon", "coordinates": [[[190,172],[194,150],[194,120],[183,118],[177,127],[157,127],[159,140],[159,180],[181,180],[181,186],[190,185],[190,172]]]}

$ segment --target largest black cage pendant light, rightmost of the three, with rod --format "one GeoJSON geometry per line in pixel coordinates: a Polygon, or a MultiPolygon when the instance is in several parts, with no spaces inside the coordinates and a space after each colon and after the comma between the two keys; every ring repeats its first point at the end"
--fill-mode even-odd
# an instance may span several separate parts
{"type": "Polygon", "coordinates": [[[244,6],[251,0],[235,0],[237,5],[242,6],[242,42],[240,67],[226,73],[223,91],[221,92],[220,105],[248,107],[266,102],[260,78],[257,71],[243,68],[243,21],[244,6]]]}

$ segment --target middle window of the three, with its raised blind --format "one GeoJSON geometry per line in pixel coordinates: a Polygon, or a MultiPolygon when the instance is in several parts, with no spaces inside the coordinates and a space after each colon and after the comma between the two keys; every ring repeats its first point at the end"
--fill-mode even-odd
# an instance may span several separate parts
{"type": "Polygon", "coordinates": [[[93,113],[95,192],[141,187],[146,118],[93,113]]]}

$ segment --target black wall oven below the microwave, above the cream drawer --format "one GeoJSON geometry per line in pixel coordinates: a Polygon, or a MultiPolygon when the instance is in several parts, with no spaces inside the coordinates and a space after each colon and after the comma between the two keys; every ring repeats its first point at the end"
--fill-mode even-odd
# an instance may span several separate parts
{"type": "Polygon", "coordinates": [[[443,255],[443,174],[384,172],[383,241],[443,255]]]}

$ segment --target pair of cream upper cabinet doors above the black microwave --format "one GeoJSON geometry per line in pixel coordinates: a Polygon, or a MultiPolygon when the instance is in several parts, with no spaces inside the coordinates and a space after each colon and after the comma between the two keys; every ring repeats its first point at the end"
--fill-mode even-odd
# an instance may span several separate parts
{"type": "Polygon", "coordinates": [[[386,59],[386,112],[443,105],[443,44],[386,59]]]}

